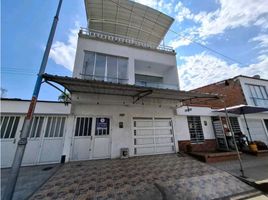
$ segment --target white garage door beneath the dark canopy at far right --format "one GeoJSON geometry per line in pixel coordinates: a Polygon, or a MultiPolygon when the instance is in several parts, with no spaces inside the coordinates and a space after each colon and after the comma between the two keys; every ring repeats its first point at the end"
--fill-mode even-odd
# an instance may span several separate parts
{"type": "MultiPolygon", "coordinates": [[[[268,145],[268,136],[261,119],[247,119],[250,135],[252,140],[262,141],[268,145]]],[[[244,134],[248,136],[245,121],[242,120],[244,134]]],[[[248,136],[249,137],[249,136],[248,136]]]]}

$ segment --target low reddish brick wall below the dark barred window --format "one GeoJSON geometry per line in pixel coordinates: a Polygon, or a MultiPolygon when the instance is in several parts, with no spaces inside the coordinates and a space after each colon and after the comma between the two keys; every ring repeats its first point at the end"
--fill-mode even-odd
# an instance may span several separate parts
{"type": "MultiPolygon", "coordinates": [[[[191,144],[190,140],[178,141],[179,150],[186,152],[188,144],[191,144]]],[[[217,142],[215,139],[205,140],[204,143],[191,144],[191,145],[193,152],[215,151],[217,148],[217,142]]]]}

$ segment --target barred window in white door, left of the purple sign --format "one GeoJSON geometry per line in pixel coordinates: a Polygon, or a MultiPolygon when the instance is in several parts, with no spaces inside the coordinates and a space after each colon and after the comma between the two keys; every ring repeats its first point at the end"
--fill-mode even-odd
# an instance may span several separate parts
{"type": "Polygon", "coordinates": [[[91,136],[92,118],[77,117],[75,126],[75,136],[91,136]]]}

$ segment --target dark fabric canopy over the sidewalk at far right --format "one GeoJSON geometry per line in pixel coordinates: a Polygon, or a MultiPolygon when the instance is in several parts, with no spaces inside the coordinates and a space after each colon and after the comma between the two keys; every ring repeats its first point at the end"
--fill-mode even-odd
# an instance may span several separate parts
{"type": "MultiPolygon", "coordinates": [[[[252,114],[252,113],[259,113],[268,111],[268,108],[259,107],[259,106],[249,106],[249,105],[237,105],[226,108],[228,113],[233,113],[237,115],[243,114],[252,114]]],[[[215,110],[214,112],[225,112],[224,108],[215,110]]]]}

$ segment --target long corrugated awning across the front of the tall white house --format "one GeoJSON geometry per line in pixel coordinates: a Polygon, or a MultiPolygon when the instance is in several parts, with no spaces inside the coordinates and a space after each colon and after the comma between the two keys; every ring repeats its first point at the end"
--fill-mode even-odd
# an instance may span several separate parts
{"type": "Polygon", "coordinates": [[[84,80],[71,77],[44,74],[46,82],[55,82],[70,93],[104,94],[133,97],[134,103],[141,98],[167,99],[167,100],[190,100],[195,98],[218,98],[216,94],[204,94],[196,92],[186,92],[171,89],[158,89],[151,87],[141,87],[136,85],[110,83],[97,80],[84,80]]]}

